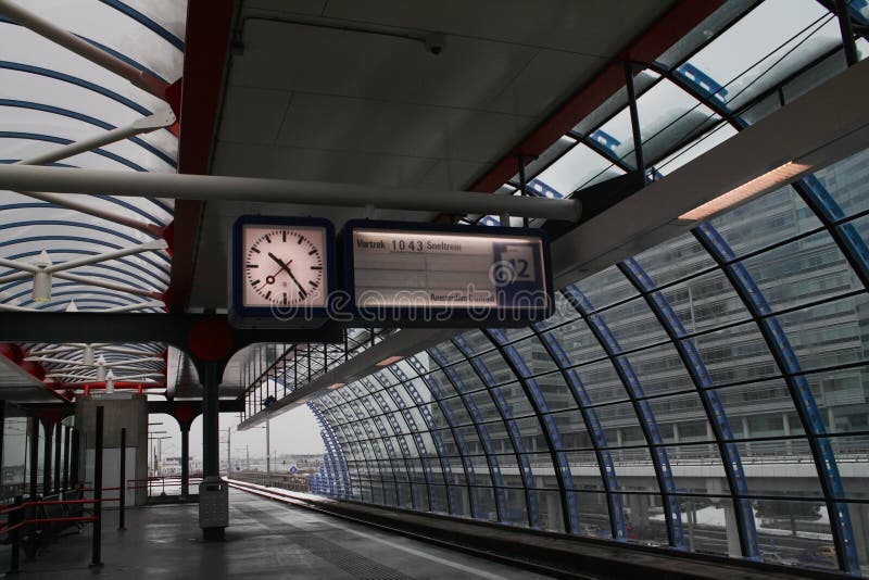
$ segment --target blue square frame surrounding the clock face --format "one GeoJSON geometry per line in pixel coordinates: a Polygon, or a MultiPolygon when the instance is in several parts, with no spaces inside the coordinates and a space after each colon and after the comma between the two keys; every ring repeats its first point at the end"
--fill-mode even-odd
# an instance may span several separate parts
{"type": "Polygon", "coordinates": [[[322,217],[242,215],[232,224],[229,241],[229,308],[228,318],[232,326],[239,328],[317,328],[329,318],[331,304],[338,288],[337,245],[335,242],[335,225],[322,217]],[[244,226],[267,227],[322,227],[325,235],[324,262],[326,267],[326,306],[304,307],[300,312],[304,316],[278,318],[270,306],[245,306],[243,300],[244,285],[244,226]]]}

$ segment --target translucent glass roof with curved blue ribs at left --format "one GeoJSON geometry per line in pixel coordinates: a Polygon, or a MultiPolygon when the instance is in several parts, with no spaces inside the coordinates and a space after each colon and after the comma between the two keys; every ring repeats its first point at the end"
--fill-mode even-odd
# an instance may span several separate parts
{"type": "MultiPolygon", "coordinates": [[[[181,76],[185,1],[39,0],[18,4],[166,84],[181,76]]],[[[127,126],[165,106],[162,99],[129,80],[0,17],[0,163],[27,163],[36,155],[127,126]]],[[[178,139],[165,127],[55,164],[168,173],[176,171],[177,153],[178,139]]],[[[172,219],[172,200],[40,198],[0,191],[0,308],[163,312],[159,299],[168,287],[171,272],[165,249],[143,249],[105,260],[100,256],[152,242],[155,232],[172,219]],[[16,276],[21,270],[14,264],[39,262],[43,252],[59,268],[52,274],[50,297],[37,295],[34,276],[16,276]],[[88,257],[89,263],[74,268],[64,265],[88,257]]],[[[34,352],[56,348],[28,345],[34,352]]],[[[137,350],[151,353],[153,348],[126,350],[106,360],[140,358],[137,350]]],[[[42,365],[49,371],[63,366],[56,362],[42,365]]],[[[68,376],[60,377],[60,382],[87,375],[74,370],[75,364],[67,367],[68,376]]]]}

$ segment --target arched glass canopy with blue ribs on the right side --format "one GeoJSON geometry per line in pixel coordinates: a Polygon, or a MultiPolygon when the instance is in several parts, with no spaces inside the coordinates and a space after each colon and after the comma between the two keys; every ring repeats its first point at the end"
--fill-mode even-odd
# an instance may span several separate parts
{"type": "MultiPolygon", "coordinates": [[[[842,71],[841,46],[823,3],[726,3],[638,72],[650,178],[842,71]]],[[[857,154],[578,280],[544,323],[323,393],[313,489],[866,575],[868,167],[857,154]]],[[[528,193],[634,168],[622,93],[529,165],[528,193]]]]}

